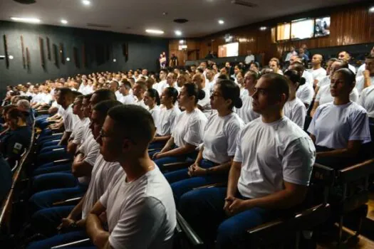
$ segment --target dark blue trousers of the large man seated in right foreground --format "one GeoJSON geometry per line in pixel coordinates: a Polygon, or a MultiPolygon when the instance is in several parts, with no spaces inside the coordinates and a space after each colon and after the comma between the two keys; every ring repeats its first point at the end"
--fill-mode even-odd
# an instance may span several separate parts
{"type": "Polygon", "coordinates": [[[180,213],[208,246],[217,239],[216,248],[248,248],[246,230],[271,221],[277,212],[251,208],[228,217],[223,210],[226,193],[227,188],[189,191],[180,198],[180,213]]]}

